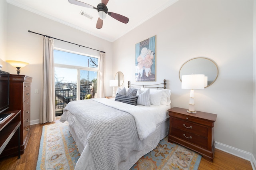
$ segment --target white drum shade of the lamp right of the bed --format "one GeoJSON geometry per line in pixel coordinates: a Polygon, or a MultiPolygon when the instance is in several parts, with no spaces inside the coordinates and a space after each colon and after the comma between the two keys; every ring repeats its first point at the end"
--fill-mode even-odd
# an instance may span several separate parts
{"type": "Polygon", "coordinates": [[[204,86],[204,74],[182,75],[181,77],[182,89],[204,89],[204,86]]]}

